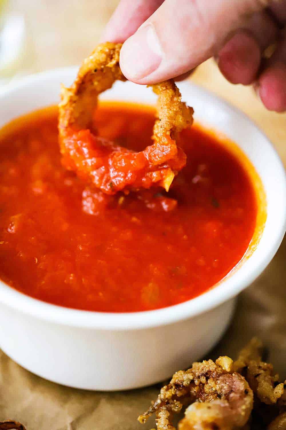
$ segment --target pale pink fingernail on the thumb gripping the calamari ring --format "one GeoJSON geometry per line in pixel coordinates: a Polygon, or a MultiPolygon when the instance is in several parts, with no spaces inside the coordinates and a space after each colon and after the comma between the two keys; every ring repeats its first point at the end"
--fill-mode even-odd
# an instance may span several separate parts
{"type": "Polygon", "coordinates": [[[163,51],[153,24],[139,28],[121,48],[120,68],[130,80],[150,75],[160,65],[163,51]]]}

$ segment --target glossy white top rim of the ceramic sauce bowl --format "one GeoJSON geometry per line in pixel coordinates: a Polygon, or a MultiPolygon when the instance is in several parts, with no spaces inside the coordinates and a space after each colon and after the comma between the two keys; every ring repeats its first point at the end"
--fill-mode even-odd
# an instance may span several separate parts
{"type": "MultiPolygon", "coordinates": [[[[0,90],[0,100],[6,98],[9,96],[9,93],[17,91],[23,86],[33,84],[36,81],[44,82],[57,75],[72,74],[75,73],[77,69],[78,67],[75,66],[57,68],[12,81],[0,90]]],[[[250,270],[245,270],[246,273],[242,280],[239,279],[239,276],[236,277],[236,273],[234,273],[232,276],[224,278],[219,284],[196,298],[156,310],[111,313],[71,309],[32,298],[13,289],[0,280],[0,302],[2,302],[2,304],[18,310],[21,313],[64,326],[101,330],[148,329],[180,322],[211,310],[238,295],[239,292],[249,286],[250,283],[262,273],[276,254],[286,230],[286,172],[283,163],[265,133],[262,132],[246,114],[201,86],[197,86],[190,82],[181,83],[181,87],[184,88],[184,86],[198,89],[209,98],[210,102],[217,103],[220,108],[246,121],[249,126],[256,129],[256,132],[264,138],[266,146],[272,151],[272,155],[275,158],[275,172],[280,176],[280,181],[277,186],[280,187],[281,199],[284,201],[283,211],[280,213],[281,222],[274,226],[273,235],[271,237],[272,241],[268,243],[268,247],[265,249],[264,254],[256,266],[252,267],[251,264],[248,264],[248,269],[250,270]]],[[[251,262],[251,259],[250,257],[241,264],[237,273],[240,272],[241,268],[245,267],[247,263],[251,262]]]]}

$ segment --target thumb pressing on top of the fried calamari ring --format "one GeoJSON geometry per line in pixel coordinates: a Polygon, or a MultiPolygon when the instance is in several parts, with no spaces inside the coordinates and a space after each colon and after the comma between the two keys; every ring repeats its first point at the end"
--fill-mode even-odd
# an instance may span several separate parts
{"type": "Polygon", "coordinates": [[[267,0],[165,0],[123,44],[127,79],[151,84],[184,74],[215,55],[267,0]]]}

